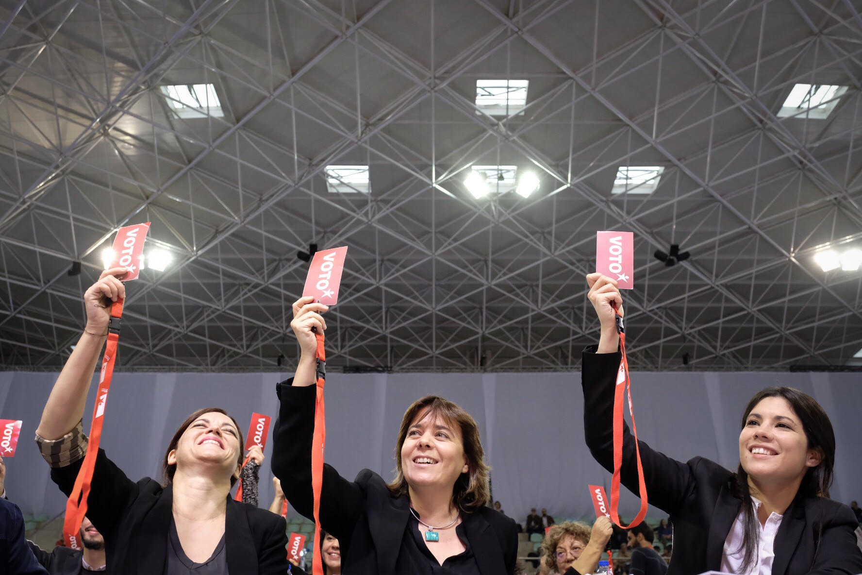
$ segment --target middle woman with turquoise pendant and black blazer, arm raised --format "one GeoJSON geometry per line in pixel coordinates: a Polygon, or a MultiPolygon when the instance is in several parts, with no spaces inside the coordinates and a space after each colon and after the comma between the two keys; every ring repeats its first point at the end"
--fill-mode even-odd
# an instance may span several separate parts
{"type": "MultiPolygon", "coordinates": [[[[290,327],[302,353],[296,375],[278,384],[272,472],[303,516],[313,516],[311,445],[315,420],[313,330],[326,329],[328,308],[302,297],[290,327]]],[[[348,481],[324,466],[321,527],[340,544],[348,573],[453,572],[499,575],[515,571],[517,526],[487,507],[489,467],[478,425],[442,397],[422,397],[406,411],[396,441],[396,477],[387,484],[365,469],[348,481]]]]}

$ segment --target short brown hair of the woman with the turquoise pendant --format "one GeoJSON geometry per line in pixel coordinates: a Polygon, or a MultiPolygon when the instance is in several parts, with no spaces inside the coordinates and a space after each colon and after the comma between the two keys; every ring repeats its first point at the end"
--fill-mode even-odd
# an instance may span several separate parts
{"type": "Polygon", "coordinates": [[[455,480],[452,503],[464,511],[472,511],[487,505],[490,501],[490,466],[484,462],[484,449],[476,420],[457,403],[437,396],[422,397],[404,412],[395,445],[395,480],[389,484],[392,495],[399,497],[408,493],[407,480],[401,467],[401,448],[407,439],[410,423],[423,411],[426,416],[440,416],[450,425],[457,423],[461,430],[464,455],[470,471],[461,473],[455,480]]]}

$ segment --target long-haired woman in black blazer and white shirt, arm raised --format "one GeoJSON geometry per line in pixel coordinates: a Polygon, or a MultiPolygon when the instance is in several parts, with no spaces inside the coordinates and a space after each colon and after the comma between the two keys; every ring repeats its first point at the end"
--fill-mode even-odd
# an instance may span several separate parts
{"type": "MultiPolygon", "coordinates": [[[[602,325],[598,347],[583,354],[584,431],[593,457],[613,470],[614,393],[620,367],[616,282],[587,276],[602,325]]],[[[742,414],[740,466],[709,459],[682,463],[638,442],[649,503],[675,526],[668,575],[721,571],[746,575],[862,572],[853,512],[828,498],[835,436],[826,412],[802,391],[759,391],[742,414]]],[[[638,492],[635,445],[622,444],[622,484],[638,492]]]]}

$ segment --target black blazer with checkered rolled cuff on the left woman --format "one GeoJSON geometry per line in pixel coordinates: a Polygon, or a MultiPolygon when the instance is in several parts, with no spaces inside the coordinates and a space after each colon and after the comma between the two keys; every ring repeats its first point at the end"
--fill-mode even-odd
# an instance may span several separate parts
{"type": "MultiPolygon", "coordinates": [[[[72,492],[84,459],[53,467],[60,491],[72,492]]],[[[232,575],[284,575],[287,572],[287,524],[284,518],[228,496],[225,550],[232,575]]],[[[165,570],[173,487],[152,478],[137,483],[126,477],[99,449],[88,498],[87,517],[105,540],[108,572],[153,575],[165,570]]]]}

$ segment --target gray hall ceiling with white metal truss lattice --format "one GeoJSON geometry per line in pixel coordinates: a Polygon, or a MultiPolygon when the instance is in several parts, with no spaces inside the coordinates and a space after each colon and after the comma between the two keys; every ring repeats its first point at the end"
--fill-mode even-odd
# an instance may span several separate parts
{"type": "Polygon", "coordinates": [[[859,0],[6,0],[0,362],[57,369],[116,228],[166,272],[130,286],[122,369],[289,369],[315,242],[349,245],[333,366],[577,368],[597,338],[595,232],[634,232],[637,369],[846,365],[862,348],[859,0]],[[508,118],[479,78],[528,79],[508,118]],[[848,86],[779,118],[796,83],[848,86]],[[215,84],[181,119],[159,86],[215,84]],[[371,166],[333,194],[330,164],[371,166]],[[474,199],[473,164],[534,169],[474,199]],[[619,166],[664,166],[611,196],[619,166]],[[691,258],[653,258],[671,243],[691,258]],[[79,276],[68,276],[73,260],[79,276]],[[681,358],[689,354],[688,366],[681,358]]]}

